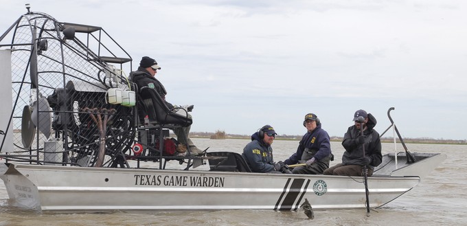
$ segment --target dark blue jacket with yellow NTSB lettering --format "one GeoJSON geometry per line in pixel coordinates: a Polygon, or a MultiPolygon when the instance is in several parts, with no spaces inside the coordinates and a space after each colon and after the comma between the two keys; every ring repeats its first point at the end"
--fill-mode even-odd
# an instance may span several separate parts
{"type": "Polygon", "coordinates": [[[251,142],[243,148],[242,157],[253,172],[271,172],[274,170],[273,148],[260,138],[260,133],[251,135],[251,142]]]}

